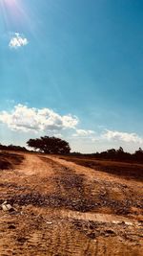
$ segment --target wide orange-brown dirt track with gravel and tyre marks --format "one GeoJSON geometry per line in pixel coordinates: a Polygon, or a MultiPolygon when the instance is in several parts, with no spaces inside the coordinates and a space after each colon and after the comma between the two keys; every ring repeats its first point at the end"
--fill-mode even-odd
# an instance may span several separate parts
{"type": "Polygon", "coordinates": [[[53,156],[0,171],[0,255],[142,255],[142,183],[53,156]]]}

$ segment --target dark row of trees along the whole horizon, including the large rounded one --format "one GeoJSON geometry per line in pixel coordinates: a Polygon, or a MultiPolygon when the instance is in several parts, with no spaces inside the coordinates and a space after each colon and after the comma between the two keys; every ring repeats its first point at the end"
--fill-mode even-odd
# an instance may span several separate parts
{"type": "MultiPolygon", "coordinates": [[[[56,137],[44,136],[36,139],[30,139],[27,142],[29,148],[31,147],[33,151],[39,151],[44,153],[55,153],[55,154],[70,154],[74,156],[88,156],[96,159],[109,159],[116,161],[137,161],[143,162],[143,150],[139,148],[133,153],[126,152],[122,147],[118,150],[111,149],[102,152],[94,152],[83,154],[80,152],[71,152],[71,147],[69,143],[65,140],[56,137]]],[[[1,151],[29,151],[25,147],[9,145],[5,146],[0,144],[1,151]]]]}

